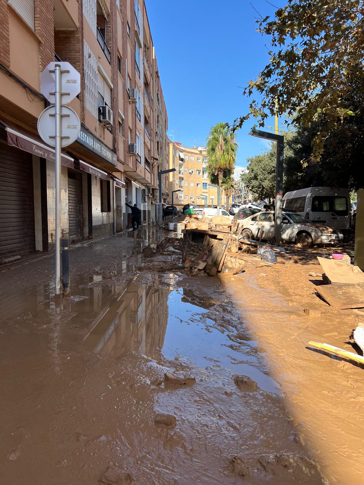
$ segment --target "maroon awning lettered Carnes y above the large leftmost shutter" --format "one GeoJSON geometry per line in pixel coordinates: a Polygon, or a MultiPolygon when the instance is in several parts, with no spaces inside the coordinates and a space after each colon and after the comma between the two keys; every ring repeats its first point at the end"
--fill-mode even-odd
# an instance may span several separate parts
{"type": "MultiPolygon", "coordinates": [[[[28,133],[25,129],[22,129],[15,124],[4,121],[1,118],[0,122],[5,126],[9,145],[16,146],[17,148],[20,148],[20,150],[55,162],[54,148],[46,145],[36,135],[28,133]]],[[[62,165],[73,168],[73,161],[72,157],[69,157],[64,152],[61,153],[62,165]]]]}

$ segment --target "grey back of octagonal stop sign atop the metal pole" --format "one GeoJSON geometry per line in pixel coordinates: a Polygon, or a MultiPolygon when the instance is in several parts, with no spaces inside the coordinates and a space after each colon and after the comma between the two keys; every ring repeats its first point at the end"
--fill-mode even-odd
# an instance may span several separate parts
{"type": "Polygon", "coordinates": [[[81,76],[69,62],[51,62],[40,75],[40,92],[50,103],[55,104],[55,75],[54,66],[60,65],[61,72],[61,103],[67,104],[81,91],[81,76]],[[53,93],[53,94],[50,94],[53,93]]]}

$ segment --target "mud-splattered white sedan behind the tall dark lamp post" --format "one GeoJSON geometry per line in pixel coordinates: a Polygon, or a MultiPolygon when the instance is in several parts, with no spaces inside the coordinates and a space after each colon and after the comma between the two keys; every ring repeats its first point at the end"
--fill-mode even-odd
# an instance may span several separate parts
{"type": "MultiPolygon", "coordinates": [[[[264,210],[243,220],[242,237],[255,239],[274,237],[274,211],[264,210]],[[259,229],[259,234],[258,234],[259,229]]],[[[301,247],[310,247],[313,244],[329,244],[342,242],[343,233],[335,227],[313,224],[297,212],[282,212],[282,240],[296,242],[301,247]]]]}

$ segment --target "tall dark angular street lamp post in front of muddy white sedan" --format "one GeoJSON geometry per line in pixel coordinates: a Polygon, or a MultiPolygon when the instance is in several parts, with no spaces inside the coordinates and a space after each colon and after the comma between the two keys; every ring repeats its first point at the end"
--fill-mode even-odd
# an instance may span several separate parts
{"type": "Polygon", "coordinates": [[[265,138],[277,142],[277,165],[276,165],[276,207],[274,211],[274,237],[276,244],[281,244],[282,239],[282,193],[283,193],[283,148],[284,136],[270,133],[269,131],[262,131],[260,129],[252,129],[249,133],[251,136],[258,138],[265,138]]]}

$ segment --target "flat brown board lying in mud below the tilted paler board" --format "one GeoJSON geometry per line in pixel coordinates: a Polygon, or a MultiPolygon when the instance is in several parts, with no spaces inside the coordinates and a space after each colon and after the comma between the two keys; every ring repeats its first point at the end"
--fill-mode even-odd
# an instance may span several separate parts
{"type": "Polygon", "coordinates": [[[331,307],[344,310],[364,307],[364,286],[332,284],[317,286],[316,291],[331,307]]]}

